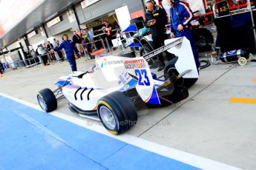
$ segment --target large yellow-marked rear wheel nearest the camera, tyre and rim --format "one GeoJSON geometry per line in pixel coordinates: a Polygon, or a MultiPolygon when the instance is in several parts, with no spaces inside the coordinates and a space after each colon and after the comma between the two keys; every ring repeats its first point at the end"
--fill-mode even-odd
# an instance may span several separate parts
{"type": "Polygon", "coordinates": [[[137,110],[122,92],[112,92],[97,103],[99,120],[113,135],[122,134],[137,123],[137,110]]]}

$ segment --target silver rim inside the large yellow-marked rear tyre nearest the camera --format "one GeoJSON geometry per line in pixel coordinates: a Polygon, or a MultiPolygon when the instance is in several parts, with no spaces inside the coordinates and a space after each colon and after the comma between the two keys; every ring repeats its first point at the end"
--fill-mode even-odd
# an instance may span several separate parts
{"type": "Polygon", "coordinates": [[[99,115],[102,118],[103,123],[105,126],[108,127],[110,130],[114,130],[116,127],[116,119],[114,118],[113,113],[108,109],[106,106],[101,106],[99,108],[99,115]]]}

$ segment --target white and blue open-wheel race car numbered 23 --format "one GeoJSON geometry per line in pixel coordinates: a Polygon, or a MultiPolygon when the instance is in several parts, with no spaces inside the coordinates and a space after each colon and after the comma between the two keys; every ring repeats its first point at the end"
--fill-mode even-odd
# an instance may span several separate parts
{"type": "Polygon", "coordinates": [[[197,81],[189,41],[176,38],[165,44],[140,58],[96,58],[87,72],[60,77],[56,82],[58,89],[39,91],[39,105],[45,112],[52,112],[57,108],[57,101],[65,97],[72,112],[87,118],[97,116],[109,132],[122,134],[137,123],[135,103],[143,102],[147,106],[177,103],[188,97],[186,86],[197,81]],[[166,50],[179,57],[168,61],[164,74],[157,78],[147,61],[166,50]]]}

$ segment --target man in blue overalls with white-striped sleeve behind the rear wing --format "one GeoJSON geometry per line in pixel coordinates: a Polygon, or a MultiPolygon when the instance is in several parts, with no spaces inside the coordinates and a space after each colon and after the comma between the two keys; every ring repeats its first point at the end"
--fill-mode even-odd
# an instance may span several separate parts
{"type": "Polygon", "coordinates": [[[188,38],[191,44],[191,48],[194,55],[194,61],[197,68],[200,67],[199,55],[196,45],[194,44],[193,32],[190,28],[190,22],[192,21],[193,14],[191,10],[179,0],[167,0],[170,8],[171,19],[171,38],[183,37],[188,38]]]}

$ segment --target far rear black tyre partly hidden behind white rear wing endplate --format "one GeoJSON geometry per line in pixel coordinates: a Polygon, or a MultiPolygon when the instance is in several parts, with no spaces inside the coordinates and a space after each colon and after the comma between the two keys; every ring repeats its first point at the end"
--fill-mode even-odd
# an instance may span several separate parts
{"type": "Polygon", "coordinates": [[[165,80],[167,80],[168,78],[171,78],[171,81],[174,81],[175,85],[185,86],[188,89],[197,82],[198,78],[175,79],[175,77],[177,77],[180,74],[175,67],[175,63],[177,62],[177,59],[178,58],[174,58],[165,64],[165,69],[164,69],[165,80]]]}

